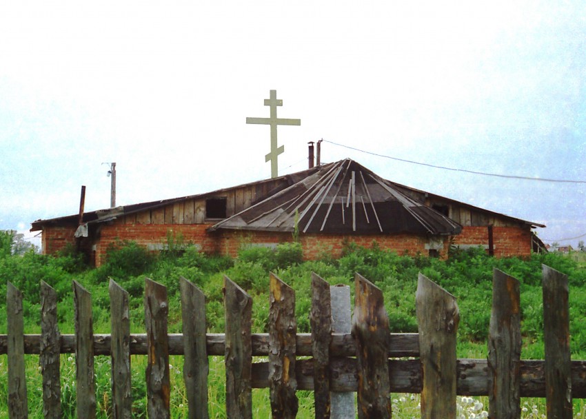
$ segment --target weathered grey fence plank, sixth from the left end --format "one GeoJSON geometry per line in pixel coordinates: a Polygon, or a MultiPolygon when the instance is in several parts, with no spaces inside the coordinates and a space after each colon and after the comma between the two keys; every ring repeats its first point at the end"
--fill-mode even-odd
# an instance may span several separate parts
{"type": "Polygon", "coordinates": [[[183,320],[183,379],[189,418],[208,418],[208,351],[205,349],[205,296],[201,289],[181,277],[183,320]]]}

